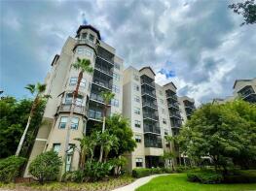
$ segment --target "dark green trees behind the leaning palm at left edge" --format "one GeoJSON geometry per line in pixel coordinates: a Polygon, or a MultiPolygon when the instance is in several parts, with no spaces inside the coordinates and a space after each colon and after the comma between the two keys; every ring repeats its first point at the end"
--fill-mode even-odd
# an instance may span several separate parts
{"type": "MultiPolygon", "coordinates": [[[[30,99],[16,100],[13,97],[0,99],[0,158],[14,155],[18,141],[24,131],[28,115],[32,108],[30,99]]],[[[25,142],[19,156],[26,157],[41,124],[45,101],[41,100],[33,114],[25,142]]]]}

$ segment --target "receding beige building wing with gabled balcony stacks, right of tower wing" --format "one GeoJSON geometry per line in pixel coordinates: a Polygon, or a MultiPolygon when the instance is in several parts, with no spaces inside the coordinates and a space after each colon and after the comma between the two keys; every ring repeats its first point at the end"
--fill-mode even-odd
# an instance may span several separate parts
{"type": "MultiPolygon", "coordinates": [[[[150,67],[136,70],[129,66],[124,71],[123,115],[129,118],[137,143],[134,151],[127,154],[128,170],[163,166],[161,156],[169,149],[165,136],[176,136],[195,110],[193,99],[179,98],[173,82],[161,86],[155,76],[150,67]]],[[[178,156],[175,143],[171,149],[176,153],[175,163],[182,162],[179,159],[186,156],[178,156]]]]}

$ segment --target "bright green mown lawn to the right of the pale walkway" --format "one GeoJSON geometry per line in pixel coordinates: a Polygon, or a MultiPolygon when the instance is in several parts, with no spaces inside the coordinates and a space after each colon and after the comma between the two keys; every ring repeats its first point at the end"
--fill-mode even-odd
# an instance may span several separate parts
{"type": "Polygon", "coordinates": [[[136,191],[256,191],[256,183],[248,184],[200,184],[187,181],[186,174],[159,176],[136,191]]]}

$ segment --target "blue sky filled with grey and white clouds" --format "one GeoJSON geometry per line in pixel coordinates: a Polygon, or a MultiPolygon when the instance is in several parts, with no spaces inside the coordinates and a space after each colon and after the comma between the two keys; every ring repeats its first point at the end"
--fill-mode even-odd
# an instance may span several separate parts
{"type": "Polygon", "coordinates": [[[27,96],[23,87],[44,80],[86,19],[126,67],[150,65],[159,83],[172,80],[179,95],[197,102],[229,96],[235,80],[256,76],[256,25],[240,27],[227,2],[2,0],[0,88],[27,96]]]}

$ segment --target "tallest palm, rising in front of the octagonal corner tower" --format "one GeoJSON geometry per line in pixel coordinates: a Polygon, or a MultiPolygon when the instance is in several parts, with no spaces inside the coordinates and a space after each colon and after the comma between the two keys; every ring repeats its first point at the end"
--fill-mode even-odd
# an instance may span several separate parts
{"type": "Polygon", "coordinates": [[[79,72],[79,75],[78,75],[76,89],[73,92],[72,103],[71,103],[71,111],[70,111],[70,114],[69,114],[69,117],[68,117],[68,122],[67,122],[67,136],[66,136],[65,147],[64,147],[64,151],[65,151],[64,164],[66,164],[65,161],[66,161],[68,145],[69,145],[71,121],[72,121],[72,117],[73,117],[74,110],[75,110],[75,103],[76,103],[76,99],[78,97],[78,91],[79,91],[80,82],[83,79],[83,75],[84,75],[85,72],[88,73],[88,74],[93,73],[93,68],[91,67],[91,61],[89,59],[85,59],[85,58],[80,59],[78,57],[77,61],[74,64],[72,64],[72,66],[76,70],[79,70],[80,72],[79,72]]]}

